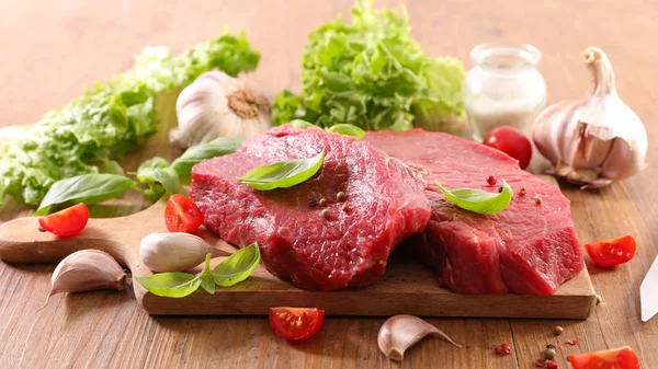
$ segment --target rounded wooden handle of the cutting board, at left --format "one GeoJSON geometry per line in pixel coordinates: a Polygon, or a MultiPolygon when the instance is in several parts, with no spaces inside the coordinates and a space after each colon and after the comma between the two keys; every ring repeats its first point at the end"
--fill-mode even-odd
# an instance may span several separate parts
{"type": "Polygon", "coordinates": [[[59,238],[44,231],[38,217],[24,217],[0,224],[0,258],[10,263],[57,263],[76,251],[101,250],[129,268],[134,254],[127,252],[117,234],[103,230],[104,219],[90,219],[82,232],[70,238],[59,238]]]}

